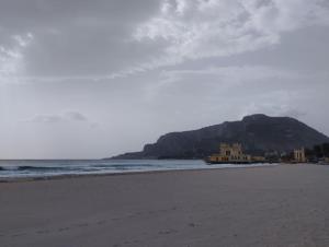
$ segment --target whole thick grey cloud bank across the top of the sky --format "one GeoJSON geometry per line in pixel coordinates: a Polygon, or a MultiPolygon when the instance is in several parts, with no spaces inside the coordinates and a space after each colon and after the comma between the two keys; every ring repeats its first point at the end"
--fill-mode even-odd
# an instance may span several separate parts
{"type": "Polygon", "coordinates": [[[113,80],[280,44],[327,26],[326,0],[11,0],[0,9],[0,80],[113,80]],[[2,79],[1,79],[2,78],[2,79]]]}

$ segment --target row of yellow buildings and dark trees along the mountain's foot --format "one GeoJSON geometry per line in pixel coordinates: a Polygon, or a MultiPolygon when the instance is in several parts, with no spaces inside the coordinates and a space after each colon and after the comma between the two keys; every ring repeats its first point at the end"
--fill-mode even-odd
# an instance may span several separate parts
{"type": "Polygon", "coordinates": [[[295,149],[291,152],[265,152],[263,156],[243,153],[240,143],[220,143],[219,152],[206,158],[209,164],[256,164],[256,163],[315,163],[329,165],[329,143],[313,149],[295,149]]]}

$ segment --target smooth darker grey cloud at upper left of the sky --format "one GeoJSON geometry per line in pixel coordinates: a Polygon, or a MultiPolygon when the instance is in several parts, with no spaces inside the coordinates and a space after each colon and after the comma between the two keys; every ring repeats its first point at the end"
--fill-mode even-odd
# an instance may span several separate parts
{"type": "Polygon", "coordinates": [[[2,1],[0,77],[4,82],[109,80],[147,57],[152,45],[134,43],[131,33],[158,4],[157,0],[2,1]]]}

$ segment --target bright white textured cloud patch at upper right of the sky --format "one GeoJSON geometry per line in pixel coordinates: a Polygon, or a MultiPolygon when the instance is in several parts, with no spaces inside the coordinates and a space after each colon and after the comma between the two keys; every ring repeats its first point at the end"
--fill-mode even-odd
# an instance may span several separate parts
{"type": "Polygon", "coordinates": [[[123,75],[186,60],[227,57],[276,45],[285,32],[329,25],[325,0],[163,0],[134,38],[167,46],[123,75]]]}

